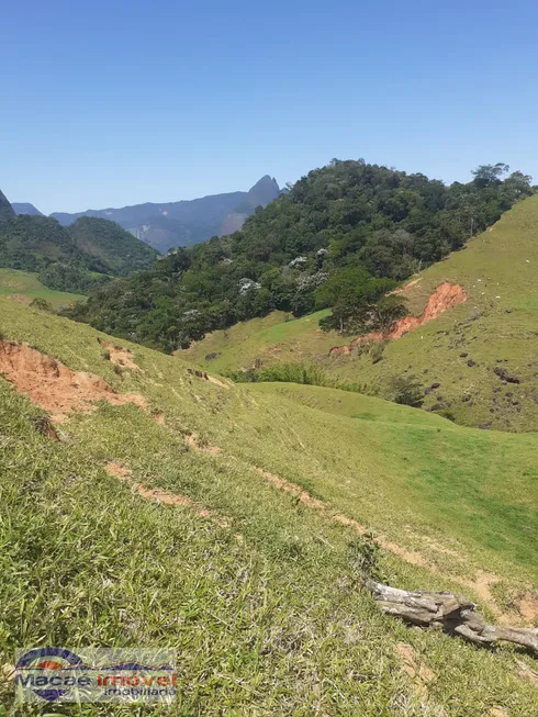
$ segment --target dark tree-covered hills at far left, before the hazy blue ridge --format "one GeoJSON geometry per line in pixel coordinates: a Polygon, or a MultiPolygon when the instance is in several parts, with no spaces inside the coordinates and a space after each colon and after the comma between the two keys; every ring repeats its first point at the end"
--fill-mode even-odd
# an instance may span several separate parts
{"type": "Polygon", "coordinates": [[[0,224],[0,267],[34,271],[49,289],[89,293],[148,269],[157,253],[117,224],[81,219],[63,227],[48,216],[8,217],[0,224]]]}

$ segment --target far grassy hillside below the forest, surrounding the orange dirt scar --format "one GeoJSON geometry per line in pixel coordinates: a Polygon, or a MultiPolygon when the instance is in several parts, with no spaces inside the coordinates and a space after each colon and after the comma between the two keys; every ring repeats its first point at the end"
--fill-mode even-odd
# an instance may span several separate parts
{"type": "Polygon", "coordinates": [[[214,363],[221,370],[248,367],[256,359],[265,365],[316,361],[339,380],[366,383],[380,395],[388,395],[394,376],[414,376],[428,392],[426,408],[449,411],[470,426],[538,430],[537,232],[538,198],[533,197],[464,249],[414,277],[405,291],[413,315],[421,315],[444,281],[461,284],[467,301],[388,344],[377,363],[359,349],[328,357],[330,347],[349,344],[354,336],[318,332],[315,314],[269,331],[247,323],[233,343],[218,332],[184,354],[209,366],[205,355],[221,352],[214,363]],[[519,383],[505,382],[500,372],[519,383]]]}

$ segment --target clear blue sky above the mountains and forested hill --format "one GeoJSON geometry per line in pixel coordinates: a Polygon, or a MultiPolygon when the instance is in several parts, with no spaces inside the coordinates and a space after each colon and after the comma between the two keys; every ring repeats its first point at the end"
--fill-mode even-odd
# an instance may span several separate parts
{"type": "Polygon", "coordinates": [[[46,213],[333,157],[538,182],[534,0],[19,0],[0,23],[0,188],[46,213]]]}

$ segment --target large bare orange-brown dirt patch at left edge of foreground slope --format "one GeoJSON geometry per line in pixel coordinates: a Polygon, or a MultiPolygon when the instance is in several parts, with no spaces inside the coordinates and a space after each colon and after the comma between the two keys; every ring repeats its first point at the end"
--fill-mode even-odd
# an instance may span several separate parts
{"type": "Polygon", "coordinates": [[[91,411],[92,401],[108,401],[113,405],[134,403],[145,407],[142,396],[115,393],[100,377],[71,371],[26,344],[0,341],[0,372],[20,393],[51,411],[58,422],[71,411],[91,411]]]}

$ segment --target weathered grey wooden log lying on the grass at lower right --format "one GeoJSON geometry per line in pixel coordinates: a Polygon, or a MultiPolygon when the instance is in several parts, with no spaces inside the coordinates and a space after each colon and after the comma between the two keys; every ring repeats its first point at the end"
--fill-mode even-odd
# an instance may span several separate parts
{"type": "Polygon", "coordinates": [[[475,612],[475,603],[467,597],[424,590],[410,592],[373,580],[367,580],[365,584],[383,613],[405,623],[458,635],[473,645],[514,642],[538,658],[538,628],[486,625],[475,612]]]}

